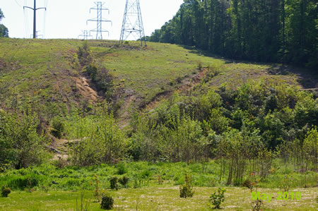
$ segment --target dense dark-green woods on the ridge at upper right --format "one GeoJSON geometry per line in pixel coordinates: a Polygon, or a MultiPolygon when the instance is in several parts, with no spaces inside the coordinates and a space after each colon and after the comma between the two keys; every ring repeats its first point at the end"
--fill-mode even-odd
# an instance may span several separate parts
{"type": "Polygon", "coordinates": [[[308,0],[185,0],[149,40],[317,68],[317,8],[308,0]]]}

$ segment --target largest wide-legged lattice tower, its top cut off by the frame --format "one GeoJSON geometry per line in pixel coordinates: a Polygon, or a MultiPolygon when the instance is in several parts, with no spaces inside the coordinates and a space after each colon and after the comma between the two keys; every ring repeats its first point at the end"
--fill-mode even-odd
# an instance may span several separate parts
{"type": "Polygon", "coordinates": [[[143,42],[145,43],[145,46],[147,46],[139,0],[126,0],[119,43],[122,44],[129,35],[133,35],[136,40],[140,40],[141,46],[143,45],[143,42]]]}

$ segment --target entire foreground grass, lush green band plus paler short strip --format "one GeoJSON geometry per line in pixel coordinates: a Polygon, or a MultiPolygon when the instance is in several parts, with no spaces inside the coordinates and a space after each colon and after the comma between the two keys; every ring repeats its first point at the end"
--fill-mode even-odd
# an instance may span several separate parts
{"type": "MultiPolygon", "coordinates": [[[[316,173],[293,172],[293,167],[283,167],[278,160],[273,167],[277,168],[276,171],[259,183],[261,193],[274,195],[271,203],[264,202],[264,208],[314,210],[317,188],[308,187],[317,185],[316,173]],[[301,200],[277,200],[277,192],[284,191],[281,184],[285,175],[293,176],[289,192],[300,191],[301,200]]],[[[220,164],[217,162],[122,162],[62,169],[46,164],[42,167],[8,171],[1,175],[0,184],[5,183],[11,187],[13,193],[8,198],[0,198],[0,206],[4,210],[25,210],[25,207],[28,207],[26,210],[76,210],[76,201],[80,207],[83,198],[83,205],[88,204],[88,210],[100,210],[96,193],[101,195],[106,192],[114,197],[114,210],[209,210],[208,197],[216,191],[213,187],[225,187],[227,181],[225,177],[219,179],[219,169],[220,164]],[[184,174],[193,177],[192,198],[179,198],[178,186],[184,184],[184,174]],[[114,176],[119,179],[127,176],[129,181],[125,186],[119,183],[119,191],[112,190],[110,180],[114,176]]],[[[225,210],[251,209],[252,199],[248,188],[225,188],[225,202],[221,207],[225,210]]]]}

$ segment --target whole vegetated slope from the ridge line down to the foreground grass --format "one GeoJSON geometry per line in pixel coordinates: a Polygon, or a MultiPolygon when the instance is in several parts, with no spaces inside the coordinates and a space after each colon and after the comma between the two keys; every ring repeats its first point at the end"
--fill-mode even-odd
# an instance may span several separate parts
{"type": "MultiPolygon", "coordinates": [[[[103,191],[128,188],[108,191],[115,207],[152,209],[154,200],[173,210],[187,201],[167,203],[163,195],[178,198],[179,185],[195,186],[194,203],[200,195],[208,202],[211,187],[260,186],[302,191],[286,210],[310,210],[318,103],[306,88],[314,87],[317,75],[303,68],[175,44],[1,39],[0,186],[13,190],[13,200],[16,191],[32,193],[20,201],[25,207],[42,194],[47,206],[64,198],[57,210],[75,208],[81,197],[62,191],[83,191],[97,209],[103,191]],[[151,198],[153,190],[162,191],[151,198]]],[[[224,206],[235,209],[237,188],[227,189],[224,206]]],[[[237,209],[250,207],[247,192],[237,209]]],[[[6,198],[0,205],[21,209],[6,198]]]]}

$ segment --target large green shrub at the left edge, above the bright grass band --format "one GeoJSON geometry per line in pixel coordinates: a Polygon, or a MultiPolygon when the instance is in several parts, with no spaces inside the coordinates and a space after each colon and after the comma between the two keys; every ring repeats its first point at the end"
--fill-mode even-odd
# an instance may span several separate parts
{"type": "Polygon", "coordinates": [[[11,164],[16,169],[40,164],[45,151],[45,136],[37,133],[40,121],[37,114],[9,113],[0,109],[0,164],[11,164]]]}

